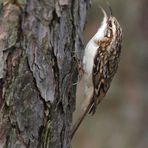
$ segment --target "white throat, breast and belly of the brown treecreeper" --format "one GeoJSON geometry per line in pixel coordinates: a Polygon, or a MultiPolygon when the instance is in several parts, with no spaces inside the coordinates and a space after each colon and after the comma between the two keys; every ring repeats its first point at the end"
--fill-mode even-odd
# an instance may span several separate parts
{"type": "Polygon", "coordinates": [[[84,51],[83,57],[83,68],[84,68],[84,94],[85,97],[88,97],[93,93],[93,82],[92,82],[92,70],[94,64],[94,57],[96,55],[97,49],[99,46],[95,43],[96,40],[101,40],[104,38],[105,29],[106,29],[106,20],[104,17],[103,22],[97,33],[93,36],[93,38],[88,42],[84,51]]]}

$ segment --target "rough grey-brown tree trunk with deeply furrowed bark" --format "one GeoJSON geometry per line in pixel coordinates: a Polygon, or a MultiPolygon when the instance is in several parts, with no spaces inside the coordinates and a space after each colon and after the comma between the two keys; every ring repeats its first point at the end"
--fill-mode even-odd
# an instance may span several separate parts
{"type": "Polygon", "coordinates": [[[88,0],[0,2],[0,148],[69,148],[88,0]]]}

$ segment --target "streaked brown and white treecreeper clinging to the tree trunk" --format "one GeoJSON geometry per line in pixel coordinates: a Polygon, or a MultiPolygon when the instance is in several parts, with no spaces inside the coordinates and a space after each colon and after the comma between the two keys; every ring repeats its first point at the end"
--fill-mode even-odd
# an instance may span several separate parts
{"type": "Polygon", "coordinates": [[[84,97],[87,104],[83,107],[80,118],[72,127],[71,139],[89,112],[94,114],[97,105],[106,95],[111,81],[117,71],[121,53],[122,28],[117,19],[107,15],[101,8],[104,18],[97,33],[86,45],[83,57],[84,97]]]}

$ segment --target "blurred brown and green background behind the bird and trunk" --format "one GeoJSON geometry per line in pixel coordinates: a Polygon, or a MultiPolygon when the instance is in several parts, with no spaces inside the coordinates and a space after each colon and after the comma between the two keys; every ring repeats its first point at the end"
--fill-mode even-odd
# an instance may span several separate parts
{"type": "MultiPolygon", "coordinates": [[[[87,115],[73,148],[148,148],[148,0],[108,0],[124,32],[118,72],[94,116],[87,115]]],[[[99,4],[92,0],[87,13],[85,44],[102,21],[99,4]]],[[[78,90],[81,88],[81,83],[78,90]]],[[[77,104],[81,104],[78,91],[77,104]]],[[[79,115],[77,105],[75,119],[79,115]]]]}

